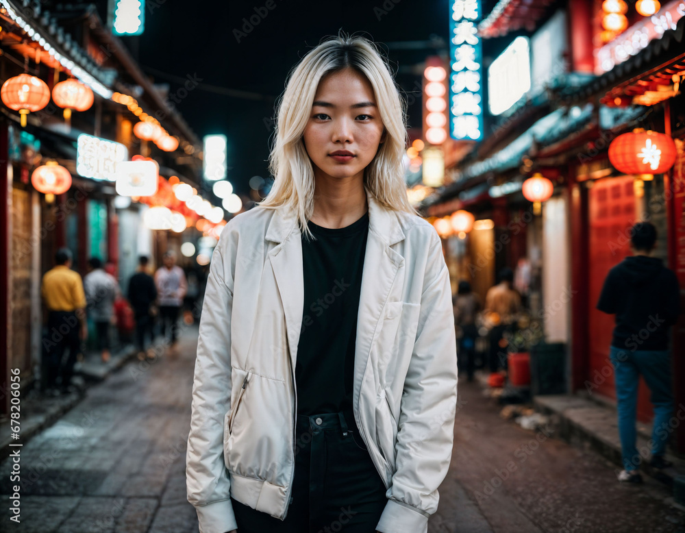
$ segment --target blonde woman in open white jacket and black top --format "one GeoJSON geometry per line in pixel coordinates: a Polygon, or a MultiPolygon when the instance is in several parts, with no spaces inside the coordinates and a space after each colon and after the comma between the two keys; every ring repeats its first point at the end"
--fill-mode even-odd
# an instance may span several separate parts
{"type": "Polygon", "coordinates": [[[202,533],[427,531],[456,340],[405,147],[371,42],[326,40],[292,71],[274,186],[224,228],[203,300],[186,457],[202,533]]]}

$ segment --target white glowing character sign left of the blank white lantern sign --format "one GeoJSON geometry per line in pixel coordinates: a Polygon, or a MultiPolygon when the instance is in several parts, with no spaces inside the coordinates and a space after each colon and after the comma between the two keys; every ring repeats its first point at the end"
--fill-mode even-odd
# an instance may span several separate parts
{"type": "Polygon", "coordinates": [[[77,138],[76,171],[80,176],[114,182],[116,164],[127,157],[128,150],[119,142],[87,134],[77,138]]]}

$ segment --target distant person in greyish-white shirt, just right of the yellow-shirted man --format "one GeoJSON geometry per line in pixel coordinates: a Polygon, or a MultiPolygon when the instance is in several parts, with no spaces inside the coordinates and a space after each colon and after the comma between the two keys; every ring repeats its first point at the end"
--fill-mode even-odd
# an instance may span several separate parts
{"type": "Polygon", "coordinates": [[[114,300],[119,293],[119,283],[105,272],[100,258],[88,260],[90,272],[84,277],[88,316],[95,323],[97,349],[103,362],[110,360],[110,324],[114,321],[114,300]]]}

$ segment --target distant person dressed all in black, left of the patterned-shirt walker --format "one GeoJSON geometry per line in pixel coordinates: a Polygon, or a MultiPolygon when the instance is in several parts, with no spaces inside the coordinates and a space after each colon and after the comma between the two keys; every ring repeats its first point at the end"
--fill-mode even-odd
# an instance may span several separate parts
{"type": "MultiPolygon", "coordinates": [[[[157,299],[157,288],[153,277],[147,271],[149,259],[147,256],[138,258],[138,269],[131,276],[128,286],[128,301],[134,310],[136,319],[136,343],[138,344],[138,359],[145,358],[145,337],[149,336],[150,344],[154,339],[152,330],[153,317],[156,316],[156,308],[153,306],[157,299]]],[[[147,352],[148,358],[154,358],[153,352],[147,352]]]]}

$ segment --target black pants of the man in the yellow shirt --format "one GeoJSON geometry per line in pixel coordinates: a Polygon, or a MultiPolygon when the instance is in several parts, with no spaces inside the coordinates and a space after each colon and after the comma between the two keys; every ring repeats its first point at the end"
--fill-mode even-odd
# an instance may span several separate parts
{"type": "Polygon", "coordinates": [[[73,311],[50,311],[47,319],[47,336],[43,339],[45,347],[45,371],[47,388],[57,385],[58,375],[62,375],[62,387],[71,383],[76,356],[81,349],[79,328],[81,324],[73,311]],[[64,350],[69,350],[66,362],[62,364],[64,350]]]}

